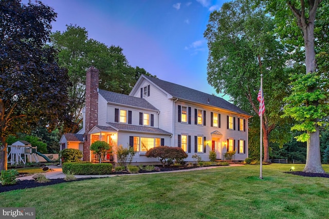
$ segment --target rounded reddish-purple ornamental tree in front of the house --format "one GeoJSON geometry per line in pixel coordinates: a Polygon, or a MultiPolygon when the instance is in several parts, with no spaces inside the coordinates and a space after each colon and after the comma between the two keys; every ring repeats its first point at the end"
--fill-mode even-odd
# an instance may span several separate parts
{"type": "Polygon", "coordinates": [[[188,157],[187,153],[179,147],[158,146],[146,152],[147,157],[157,157],[164,167],[167,159],[183,160],[188,157]]]}

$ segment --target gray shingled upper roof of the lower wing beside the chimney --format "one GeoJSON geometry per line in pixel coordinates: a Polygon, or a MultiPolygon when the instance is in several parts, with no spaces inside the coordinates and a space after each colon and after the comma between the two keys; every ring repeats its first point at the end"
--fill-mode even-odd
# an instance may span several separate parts
{"type": "Polygon", "coordinates": [[[152,104],[150,104],[143,98],[138,98],[135,96],[129,96],[126,94],[115,93],[112,91],[106,91],[101,89],[99,89],[98,92],[106,99],[107,102],[159,111],[157,108],[155,108],[152,104]]]}

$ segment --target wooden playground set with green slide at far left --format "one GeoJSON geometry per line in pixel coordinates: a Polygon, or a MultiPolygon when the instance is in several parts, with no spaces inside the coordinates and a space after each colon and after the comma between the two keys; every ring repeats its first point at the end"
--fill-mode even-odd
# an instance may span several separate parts
{"type": "Polygon", "coordinates": [[[51,162],[47,156],[37,151],[36,147],[32,147],[31,143],[27,141],[20,140],[7,146],[7,163],[10,165],[19,163],[25,165],[27,161],[33,161],[32,157],[35,163],[39,163],[37,155],[42,156],[47,162],[51,162]]]}

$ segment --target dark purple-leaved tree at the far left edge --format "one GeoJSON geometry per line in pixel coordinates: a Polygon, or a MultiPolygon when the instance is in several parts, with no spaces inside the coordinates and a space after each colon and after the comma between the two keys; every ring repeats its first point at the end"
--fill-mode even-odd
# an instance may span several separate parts
{"type": "Polygon", "coordinates": [[[45,44],[56,13],[48,6],[0,1],[0,169],[9,134],[58,125],[67,103],[67,72],[45,44]]]}

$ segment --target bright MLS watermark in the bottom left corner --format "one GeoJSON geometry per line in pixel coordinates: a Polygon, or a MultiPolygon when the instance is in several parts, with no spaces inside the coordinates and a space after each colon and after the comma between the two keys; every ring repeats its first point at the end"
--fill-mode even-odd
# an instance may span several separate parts
{"type": "Polygon", "coordinates": [[[0,218],[35,219],[35,208],[0,208],[0,218]]]}

